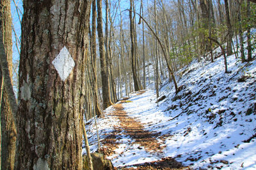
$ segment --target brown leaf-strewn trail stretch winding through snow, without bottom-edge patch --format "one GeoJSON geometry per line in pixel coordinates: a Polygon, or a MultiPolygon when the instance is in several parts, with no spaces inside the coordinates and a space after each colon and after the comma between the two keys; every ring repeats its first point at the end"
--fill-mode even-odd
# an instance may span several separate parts
{"type": "MultiPolygon", "coordinates": [[[[143,94],[145,91],[137,92],[137,95],[143,94]]],[[[165,145],[163,143],[159,143],[157,141],[157,137],[160,135],[159,133],[153,133],[150,131],[145,131],[143,124],[138,120],[135,120],[132,117],[129,117],[127,113],[124,111],[123,103],[126,103],[127,99],[120,101],[120,103],[116,103],[113,105],[115,109],[109,115],[115,117],[116,119],[120,120],[120,127],[115,127],[115,131],[113,134],[109,135],[106,139],[104,139],[103,143],[105,146],[108,146],[107,155],[111,155],[113,150],[119,145],[116,142],[116,139],[121,138],[120,132],[122,135],[130,136],[132,139],[135,140],[134,143],[140,145],[138,148],[142,149],[144,147],[147,152],[154,152],[154,153],[163,153],[163,148],[165,145]]],[[[131,143],[134,144],[134,143],[131,143]]],[[[106,151],[105,151],[106,152],[106,151]]]]}

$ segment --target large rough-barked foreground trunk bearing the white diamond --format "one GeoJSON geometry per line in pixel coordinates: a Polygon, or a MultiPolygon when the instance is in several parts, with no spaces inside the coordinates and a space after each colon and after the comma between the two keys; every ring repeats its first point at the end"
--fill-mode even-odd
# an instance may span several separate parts
{"type": "Polygon", "coordinates": [[[23,3],[15,168],[82,169],[91,1],[23,3]]]}

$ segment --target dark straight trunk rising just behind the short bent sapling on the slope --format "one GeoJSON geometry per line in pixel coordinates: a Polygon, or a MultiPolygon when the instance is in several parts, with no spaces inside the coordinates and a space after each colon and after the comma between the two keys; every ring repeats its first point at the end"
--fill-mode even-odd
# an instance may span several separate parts
{"type": "Polygon", "coordinates": [[[232,55],[232,25],[230,22],[230,15],[229,15],[229,8],[228,8],[228,0],[225,1],[225,11],[226,11],[226,21],[227,21],[227,27],[228,27],[228,36],[227,36],[227,55],[232,55]]]}

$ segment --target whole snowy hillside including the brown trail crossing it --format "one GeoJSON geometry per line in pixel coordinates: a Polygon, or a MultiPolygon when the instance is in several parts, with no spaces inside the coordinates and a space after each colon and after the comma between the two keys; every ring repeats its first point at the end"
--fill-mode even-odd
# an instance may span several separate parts
{"type": "MultiPolygon", "coordinates": [[[[214,50],[219,54],[220,48],[214,50]]],[[[256,60],[241,63],[235,55],[227,60],[229,73],[222,56],[180,69],[182,90],[175,94],[173,83],[164,81],[160,96],[165,99],[158,106],[155,90],[148,89],[105,110],[97,124],[114,166],[172,157],[193,169],[256,168],[256,60]]],[[[86,129],[95,152],[94,120],[86,122],[86,129]]]]}

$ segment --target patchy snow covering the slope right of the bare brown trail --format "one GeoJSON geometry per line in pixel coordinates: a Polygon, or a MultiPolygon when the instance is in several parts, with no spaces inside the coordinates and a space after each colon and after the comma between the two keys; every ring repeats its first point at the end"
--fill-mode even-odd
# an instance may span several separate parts
{"type": "Polygon", "coordinates": [[[211,167],[215,162],[214,166],[227,169],[256,168],[256,140],[243,143],[256,130],[256,60],[246,67],[245,82],[237,82],[241,74],[230,80],[244,64],[236,64],[234,56],[228,60],[229,74],[224,73],[222,59],[205,68],[192,64],[189,70],[195,71],[179,81],[179,85],[186,86],[184,90],[175,96],[170,84],[163,87],[161,94],[168,97],[159,107],[154,90],[132,97],[133,102],[125,104],[130,116],[147,124],[145,129],[171,135],[166,139],[165,157],[177,157],[192,167],[211,167]]]}

